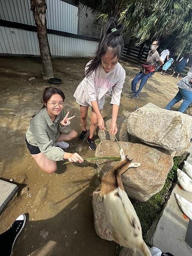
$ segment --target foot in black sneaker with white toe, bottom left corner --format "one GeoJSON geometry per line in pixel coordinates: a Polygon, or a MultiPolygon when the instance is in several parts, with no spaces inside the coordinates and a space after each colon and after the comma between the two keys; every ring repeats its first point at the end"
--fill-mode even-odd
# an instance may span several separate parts
{"type": "Polygon", "coordinates": [[[16,220],[13,222],[12,226],[9,230],[0,234],[0,255],[1,256],[10,256],[13,250],[13,246],[15,241],[23,227],[25,226],[26,215],[21,214],[16,220]]]}

